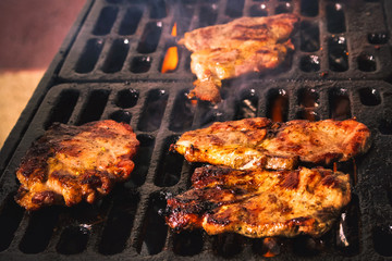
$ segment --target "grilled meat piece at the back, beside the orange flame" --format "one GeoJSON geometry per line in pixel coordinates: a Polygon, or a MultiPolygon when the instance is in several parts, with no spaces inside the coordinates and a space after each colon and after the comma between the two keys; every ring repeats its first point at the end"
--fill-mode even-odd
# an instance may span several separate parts
{"type": "Polygon", "coordinates": [[[294,14],[241,17],[185,33],[180,44],[193,52],[197,76],[189,98],[219,102],[222,79],[279,66],[294,49],[289,37],[297,20],[294,14]]]}

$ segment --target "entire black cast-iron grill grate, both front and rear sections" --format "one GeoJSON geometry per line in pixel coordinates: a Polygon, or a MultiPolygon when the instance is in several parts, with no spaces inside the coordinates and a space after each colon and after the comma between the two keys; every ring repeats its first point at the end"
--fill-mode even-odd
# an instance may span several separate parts
{"type": "Polygon", "coordinates": [[[391,259],[391,8],[377,0],[88,1],[5,142],[12,148],[1,151],[0,259],[391,259]],[[174,22],[181,37],[280,12],[301,17],[291,61],[271,75],[224,80],[219,105],[185,98],[194,79],[186,50],[174,72],[160,73],[166,49],[175,46],[174,22]],[[215,121],[273,117],[277,103],[282,121],[357,117],[371,129],[370,151],[338,165],[354,189],[335,227],[319,239],[273,240],[168,229],[159,214],[164,195],[187,189],[196,167],[168,152],[170,144],[215,121]],[[21,158],[50,124],[103,119],[130,123],[142,142],[128,182],[94,206],[26,213],[14,202],[21,158]]]}

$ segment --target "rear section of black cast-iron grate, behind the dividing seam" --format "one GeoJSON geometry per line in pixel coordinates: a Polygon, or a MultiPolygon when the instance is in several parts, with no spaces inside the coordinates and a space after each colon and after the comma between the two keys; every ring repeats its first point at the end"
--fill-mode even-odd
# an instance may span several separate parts
{"type": "MultiPolygon", "coordinates": [[[[387,5],[388,8],[388,5],[387,5]]],[[[379,79],[390,76],[383,1],[106,0],[97,1],[60,72],[68,80],[194,79],[189,52],[161,73],[169,47],[185,32],[241,16],[294,13],[301,18],[295,52],[272,76],[296,79],[379,79]],[[177,37],[171,36],[174,23],[177,37]]]]}

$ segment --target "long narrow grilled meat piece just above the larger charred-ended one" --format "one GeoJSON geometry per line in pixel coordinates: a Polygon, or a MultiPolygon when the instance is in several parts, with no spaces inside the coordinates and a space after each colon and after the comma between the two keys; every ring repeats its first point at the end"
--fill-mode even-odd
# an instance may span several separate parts
{"type": "Polygon", "coordinates": [[[355,120],[272,123],[255,117],[186,132],[171,148],[191,162],[292,170],[298,160],[317,164],[346,161],[369,148],[369,129],[355,120]]]}

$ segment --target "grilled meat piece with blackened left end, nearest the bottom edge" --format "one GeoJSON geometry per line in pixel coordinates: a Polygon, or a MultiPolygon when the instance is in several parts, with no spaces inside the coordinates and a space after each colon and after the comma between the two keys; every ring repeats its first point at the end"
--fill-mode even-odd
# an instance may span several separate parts
{"type": "Polygon", "coordinates": [[[248,237],[321,236],[351,200],[347,174],[326,169],[269,172],[198,167],[193,187],[168,199],[167,223],[248,237]]]}

